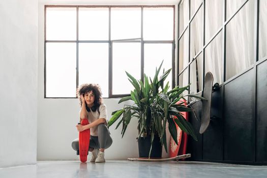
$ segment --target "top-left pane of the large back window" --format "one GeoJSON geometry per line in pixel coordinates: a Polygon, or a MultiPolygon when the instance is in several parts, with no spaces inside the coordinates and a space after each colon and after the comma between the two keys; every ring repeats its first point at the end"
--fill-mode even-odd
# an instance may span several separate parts
{"type": "Polygon", "coordinates": [[[46,8],[46,40],[76,40],[76,8],[46,8]]]}

